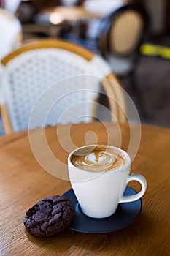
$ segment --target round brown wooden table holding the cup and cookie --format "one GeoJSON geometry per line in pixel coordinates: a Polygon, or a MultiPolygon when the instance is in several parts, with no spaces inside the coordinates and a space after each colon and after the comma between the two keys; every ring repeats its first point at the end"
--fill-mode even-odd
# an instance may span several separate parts
{"type": "MultiPolygon", "coordinates": [[[[107,127],[114,138],[115,124],[108,123],[107,127]]],[[[120,127],[122,148],[126,150],[128,124],[120,127]]],[[[65,143],[66,126],[61,128],[61,142],[65,143]]],[[[88,131],[96,132],[98,143],[107,143],[103,124],[74,124],[70,136],[76,146],[85,144],[84,135],[88,131]]],[[[39,132],[41,129],[35,131],[37,145],[39,132]]],[[[66,164],[68,153],[58,143],[56,127],[47,127],[46,135],[53,154],[66,164]]],[[[142,125],[142,140],[132,170],[147,178],[148,188],[142,197],[142,213],[131,225],[104,234],[79,233],[67,228],[50,238],[36,238],[23,225],[26,211],[43,197],[63,194],[71,187],[70,183],[51,176],[36,162],[27,131],[1,137],[0,255],[170,255],[169,139],[169,128],[142,125]]],[[[129,185],[139,189],[138,184],[129,185]]]]}

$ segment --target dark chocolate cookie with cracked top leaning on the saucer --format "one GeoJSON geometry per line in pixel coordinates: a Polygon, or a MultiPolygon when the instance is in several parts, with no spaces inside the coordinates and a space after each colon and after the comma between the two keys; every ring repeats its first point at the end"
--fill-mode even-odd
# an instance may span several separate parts
{"type": "Polygon", "coordinates": [[[45,197],[26,212],[23,223],[34,236],[47,237],[60,232],[74,219],[74,206],[65,196],[45,197]]]}

